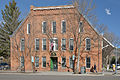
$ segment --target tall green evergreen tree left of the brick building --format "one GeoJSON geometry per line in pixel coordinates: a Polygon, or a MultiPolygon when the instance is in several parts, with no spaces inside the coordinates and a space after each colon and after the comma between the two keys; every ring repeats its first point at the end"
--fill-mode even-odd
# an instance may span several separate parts
{"type": "Polygon", "coordinates": [[[22,20],[19,19],[20,11],[15,0],[5,5],[2,11],[3,22],[0,25],[0,54],[4,57],[10,56],[10,35],[16,30],[22,20]]]}

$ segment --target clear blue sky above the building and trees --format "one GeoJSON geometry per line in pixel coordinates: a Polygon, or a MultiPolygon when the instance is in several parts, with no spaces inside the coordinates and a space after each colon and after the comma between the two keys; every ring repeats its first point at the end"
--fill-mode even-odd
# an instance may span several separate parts
{"type": "MultiPolygon", "coordinates": [[[[5,4],[8,4],[12,0],[0,0],[0,10],[5,8],[5,4]]],[[[15,0],[17,6],[20,8],[23,18],[30,10],[30,5],[34,6],[56,6],[67,5],[70,0],[15,0]]],[[[110,32],[114,32],[120,37],[120,0],[96,0],[96,16],[98,22],[108,26],[110,32]]],[[[2,15],[0,12],[0,21],[2,21],[2,15]]]]}

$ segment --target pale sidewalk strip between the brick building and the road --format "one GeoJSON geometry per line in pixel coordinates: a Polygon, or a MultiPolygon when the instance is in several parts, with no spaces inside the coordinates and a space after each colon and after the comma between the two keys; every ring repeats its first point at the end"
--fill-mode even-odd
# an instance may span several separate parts
{"type": "Polygon", "coordinates": [[[55,75],[55,76],[120,76],[120,71],[117,74],[114,72],[101,72],[101,73],[85,73],[85,74],[73,74],[73,72],[56,72],[56,71],[40,71],[40,72],[16,72],[16,71],[0,71],[0,74],[21,74],[21,75],[55,75]]]}

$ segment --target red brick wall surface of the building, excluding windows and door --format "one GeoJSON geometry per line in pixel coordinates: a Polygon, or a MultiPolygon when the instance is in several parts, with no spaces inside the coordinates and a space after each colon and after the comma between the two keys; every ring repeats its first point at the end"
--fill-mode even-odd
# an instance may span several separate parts
{"type": "MultiPolygon", "coordinates": [[[[26,71],[32,70],[31,56],[39,57],[39,67],[35,67],[38,71],[50,71],[51,70],[51,58],[57,60],[57,71],[72,71],[70,68],[70,57],[73,56],[75,51],[69,50],[69,39],[73,38],[70,33],[70,26],[77,25],[77,16],[74,7],[71,6],[57,6],[57,7],[34,7],[31,6],[31,11],[26,17],[24,22],[19,26],[16,32],[11,36],[11,70],[17,70],[20,66],[20,56],[24,56],[24,67],[26,71]],[[69,17],[69,18],[68,18],[69,17]],[[69,21],[73,21],[73,24],[69,21]],[[66,33],[61,33],[61,22],[66,21],[66,33]],[[47,22],[47,28],[49,27],[49,36],[58,39],[58,50],[54,51],[56,55],[51,56],[50,52],[50,40],[46,34],[42,33],[42,22],[47,22]],[[56,22],[56,33],[52,34],[51,22],[56,22]],[[27,34],[27,24],[30,24],[30,34],[27,34]],[[24,38],[25,48],[24,51],[20,50],[20,40],[24,38]],[[35,39],[39,39],[39,50],[35,50],[35,39]],[[46,39],[46,50],[42,50],[42,39],[46,39]],[[61,39],[66,39],[66,50],[61,50],[61,39]],[[46,67],[43,67],[43,56],[46,57],[46,67]],[[66,67],[62,67],[62,57],[66,58],[66,67]]],[[[86,57],[90,57],[90,68],[86,68],[87,72],[90,72],[92,66],[96,64],[98,72],[102,70],[102,45],[101,38],[99,41],[99,34],[89,24],[89,22],[82,16],[81,21],[84,21],[82,43],[80,48],[80,68],[86,67],[86,57]],[[90,50],[86,50],[86,38],[90,38],[91,47],[90,50]],[[99,44],[100,43],[100,44],[99,44]]],[[[78,53],[78,51],[77,51],[78,53]]],[[[77,57],[76,57],[77,58],[77,57]]],[[[77,63],[77,59],[75,64],[77,63]]],[[[79,68],[79,70],[80,70],[79,68]]]]}

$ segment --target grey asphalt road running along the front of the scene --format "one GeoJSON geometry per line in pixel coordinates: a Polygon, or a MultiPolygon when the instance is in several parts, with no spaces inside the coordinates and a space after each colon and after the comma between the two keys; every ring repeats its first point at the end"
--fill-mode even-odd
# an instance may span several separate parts
{"type": "Polygon", "coordinates": [[[25,75],[0,73],[0,80],[120,80],[120,76],[25,75]]]}

